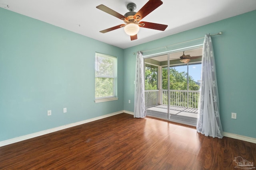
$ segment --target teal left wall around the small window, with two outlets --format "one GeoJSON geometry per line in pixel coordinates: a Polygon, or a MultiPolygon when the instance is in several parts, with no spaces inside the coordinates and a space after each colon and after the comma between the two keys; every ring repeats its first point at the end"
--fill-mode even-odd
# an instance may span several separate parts
{"type": "Polygon", "coordinates": [[[0,8],[0,141],[123,110],[123,63],[123,49],[0,8]],[[95,52],[117,57],[117,101],[94,103],[95,52]]]}

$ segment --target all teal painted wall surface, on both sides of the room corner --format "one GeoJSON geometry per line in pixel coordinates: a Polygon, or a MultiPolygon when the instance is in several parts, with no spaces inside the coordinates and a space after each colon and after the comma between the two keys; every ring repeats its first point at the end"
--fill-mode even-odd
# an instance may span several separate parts
{"type": "MultiPolygon", "coordinates": [[[[133,52],[212,37],[225,132],[256,138],[256,11],[120,49],[0,8],[0,141],[133,111],[133,52]],[[95,52],[118,58],[118,100],[94,103],[95,52]],[[128,103],[131,100],[131,103],[128,103]],[[62,113],[67,107],[67,113],[62,113]],[[47,116],[47,110],[52,115],[47,116]],[[231,119],[231,112],[237,119],[231,119]]],[[[203,42],[168,47],[178,49],[203,42]]],[[[156,53],[160,51],[152,51],[156,53]]],[[[145,53],[145,55],[148,55],[145,53]]]]}

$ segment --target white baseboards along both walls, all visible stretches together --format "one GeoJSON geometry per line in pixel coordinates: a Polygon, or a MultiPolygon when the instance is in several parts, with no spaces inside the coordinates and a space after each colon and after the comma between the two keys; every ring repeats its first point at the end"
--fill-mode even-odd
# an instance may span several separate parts
{"type": "MultiPolygon", "coordinates": [[[[96,121],[96,120],[99,120],[99,119],[104,119],[106,117],[118,115],[120,113],[127,113],[127,114],[130,114],[130,115],[134,115],[134,112],[132,112],[132,111],[126,111],[126,110],[117,111],[115,113],[110,113],[110,114],[107,114],[107,115],[102,115],[102,116],[99,116],[99,117],[94,117],[92,119],[87,119],[87,120],[84,120],[84,121],[78,121],[76,123],[70,123],[68,125],[63,125],[63,126],[55,127],[55,128],[52,128],[52,129],[47,129],[47,130],[44,130],[44,131],[40,131],[40,132],[36,132],[36,133],[31,133],[31,134],[24,135],[24,136],[21,136],[21,137],[16,137],[16,138],[8,139],[6,141],[0,141],[0,147],[5,146],[5,145],[10,145],[12,143],[24,141],[24,140],[27,140],[27,139],[31,139],[31,138],[34,138],[34,137],[38,137],[38,136],[41,136],[41,135],[46,135],[48,133],[60,131],[62,129],[67,129],[67,128],[74,127],[74,126],[77,126],[77,125],[82,125],[84,123],[88,123],[88,122],[91,122],[91,121],[96,121]]],[[[230,138],[239,139],[239,140],[242,140],[242,141],[256,143],[256,138],[252,138],[252,137],[246,137],[246,136],[236,135],[236,134],[227,133],[227,132],[223,132],[223,135],[225,137],[230,137],[230,138]]]]}

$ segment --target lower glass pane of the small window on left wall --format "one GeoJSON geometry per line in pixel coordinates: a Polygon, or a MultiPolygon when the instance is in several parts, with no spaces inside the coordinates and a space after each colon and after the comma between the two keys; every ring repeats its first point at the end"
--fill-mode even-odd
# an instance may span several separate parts
{"type": "Polygon", "coordinates": [[[95,78],[95,98],[114,96],[114,78],[95,78]]]}

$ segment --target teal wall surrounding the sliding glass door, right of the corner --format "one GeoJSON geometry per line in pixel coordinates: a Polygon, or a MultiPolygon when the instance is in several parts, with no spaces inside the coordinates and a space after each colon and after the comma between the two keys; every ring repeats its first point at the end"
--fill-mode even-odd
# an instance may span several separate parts
{"type": "MultiPolygon", "coordinates": [[[[212,41],[223,130],[256,138],[256,10],[125,49],[124,110],[134,110],[136,56],[133,52],[197,39],[204,37],[206,33],[214,34],[219,31],[223,31],[223,35],[212,37],[212,41]],[[128,104],[128,100],[131,100],[131,104],[128,104]],[[237,113],[237,119],[231,119],[231,112],[237,113]]],[[[201,43],[203,39],[171,46],[167,51],[201,43]]],[[[151,51],[156,52],[160,51],[151,51]]]]}

